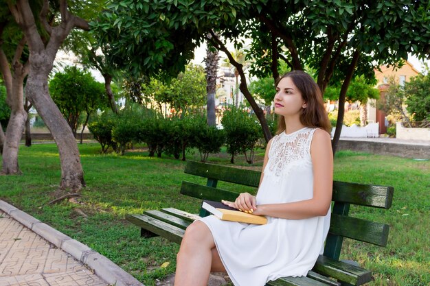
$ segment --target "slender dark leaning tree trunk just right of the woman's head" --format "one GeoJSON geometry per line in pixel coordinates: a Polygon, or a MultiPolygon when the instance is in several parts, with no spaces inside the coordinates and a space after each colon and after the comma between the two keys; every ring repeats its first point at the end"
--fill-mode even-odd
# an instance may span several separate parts
{"type": "Polygon", "coordinates": [[[352,75],[354,75],[354,70],[357,66],[359,56],[360,52],[358,50],[355,50],[354,56],[352,56],[350,66],[348,67],[348,71],[346,72],[345,80],[342,83],[341,92],[339,94],[339,110],[337,112],[336,131],[332,140],[333,156],[335,156],[337,144],[339,143],[339,139],[341,138],[343,115],[345,115],[346,91],[348,91],[348,86],[350,85],[350,82],[352,80],[352,75]]]}

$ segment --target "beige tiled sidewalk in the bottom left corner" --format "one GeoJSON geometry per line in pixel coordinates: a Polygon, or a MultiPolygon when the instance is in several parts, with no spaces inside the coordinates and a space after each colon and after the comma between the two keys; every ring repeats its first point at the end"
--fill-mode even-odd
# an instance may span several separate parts
{"type": "Polygon", "coordinates": [[[82,263],[0,211],[0,286],[108,285],[82,263]]]}

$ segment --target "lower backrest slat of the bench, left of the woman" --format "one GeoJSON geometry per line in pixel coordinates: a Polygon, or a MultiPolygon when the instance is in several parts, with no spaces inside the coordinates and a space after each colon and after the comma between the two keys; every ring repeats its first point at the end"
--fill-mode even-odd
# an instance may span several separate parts
{"type": "Polygon", "coordinates": [[[201,184],[194,184],[193,182],[183,181],[181,186],[181,194],[189,195],[193,198],[202,200],[236,200],[238,193],[233,191],[225,191],[223,189],[215,189],[212,187],[202,186],[201,184]]]}

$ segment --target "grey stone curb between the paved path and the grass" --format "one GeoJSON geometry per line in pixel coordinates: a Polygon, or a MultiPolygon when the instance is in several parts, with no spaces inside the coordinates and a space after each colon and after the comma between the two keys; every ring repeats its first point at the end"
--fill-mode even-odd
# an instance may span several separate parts
{"type": "Polygon", "coordinates": [[[109,285],[115,286],[144,286],[136,278],[125,272],[121,267],[104,257],[102,254],[92,250],[88,246],[71,239],[67,235],[60,233],[55,228],[44,224],[40,220],[24,213],[18,208],[0,200],[0,210],[7,213],[34,233],[40,235],[54,246],[71,254],[76,260],[88,265],[95,274],[100,276],[109,285]]]}

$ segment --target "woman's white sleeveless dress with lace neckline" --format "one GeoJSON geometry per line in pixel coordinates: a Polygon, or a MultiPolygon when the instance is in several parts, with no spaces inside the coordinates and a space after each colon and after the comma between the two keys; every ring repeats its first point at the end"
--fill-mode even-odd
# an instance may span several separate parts
{"type": "MultiPolygon", "coordinates": [[[[269,161],[257,193],[257,204],[313,198],[310,143],[315,128],[273,137],[269,161]]],[[[200,219],[211,230],[235,286],[263,286],[284,276],[306,276],[324,250],[330,209],[308,219],[267,217],[265,225],[227,222],[210,215],[200,219]]]]}

